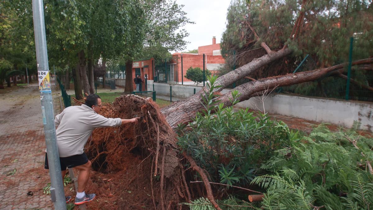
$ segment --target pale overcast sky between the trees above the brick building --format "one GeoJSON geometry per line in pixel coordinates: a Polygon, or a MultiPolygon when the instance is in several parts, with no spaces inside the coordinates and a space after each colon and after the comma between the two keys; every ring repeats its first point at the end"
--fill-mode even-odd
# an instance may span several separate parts
{"type": "Polygon", "coordinates": [[[195,22],[184,27],[189,33],[185,38],[189,43],[184,51],[212,44],[213,36],[216,37],[216,43],[220,43],[230,2],[231,0],[176,0],[176,3],[185,5],[183,10],[187,13],[186,16],[195,22]]]}

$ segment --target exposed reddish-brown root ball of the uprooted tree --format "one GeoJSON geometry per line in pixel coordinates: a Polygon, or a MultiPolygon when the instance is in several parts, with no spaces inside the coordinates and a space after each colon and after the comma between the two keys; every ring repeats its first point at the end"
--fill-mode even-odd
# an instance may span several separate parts
{"type": "MultiPolygon", "coordinates": [[[[145,99],[137,95],[120,96],[113,105],[105,104],[100,114],[105,117],[127,119],[137,115],[141,119],[137,124],[94,130],[86,145],[86,152],[93,160],[94,169],[103,173],[121,174],[126,170],[128,154],[140,155],[143,160],[140,160],[138,168],[142,168],[147,180],[150,174],[151,195],[148,196],[151,200],[148,201],[148,206],[162,210],[179,209],[180,203],[189,203],[193,199],[183,167],[185,161],[188,161],[192,169],[206,179],[204,185],[207,198],[213,206],[220,209],[214,200],[207,175],[191,157],[180,153],[176,145],[175,132],[166,122],[158,105],[150,98],[145,99]],[[147,164],[148,167],[142,167],[143,164],[147,164]]],[[[128,186],[122,185],[121,178],[116,177],[110,182],[116,188],[127,189],[128,186]]],[[[131,180],[132,182],[134,180],[131,180]]]]}

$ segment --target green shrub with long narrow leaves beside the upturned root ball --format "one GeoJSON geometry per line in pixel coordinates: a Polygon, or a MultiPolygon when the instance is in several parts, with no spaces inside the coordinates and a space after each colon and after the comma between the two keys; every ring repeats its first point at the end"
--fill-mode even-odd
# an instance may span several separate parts
{"type": "MultiPolygon", "coordinates": [[[[179,127],[178,144],[207,170],[211,181],[248,184],[261,163],[276,149],[288,147],[289,139],[297,139],[297,133],[290,132],[282,122],[271,121],[266,114],[254,116],[248,109],[223,108],[213,93],[218,88],[214,86],[216,77],[209,80],[209,92],[202,97],[206,111],[197,113],[189,131],[179,127]]],[[[238,92],[233,92],[232,104],[238,102],[237,96],[238,92]]]]}

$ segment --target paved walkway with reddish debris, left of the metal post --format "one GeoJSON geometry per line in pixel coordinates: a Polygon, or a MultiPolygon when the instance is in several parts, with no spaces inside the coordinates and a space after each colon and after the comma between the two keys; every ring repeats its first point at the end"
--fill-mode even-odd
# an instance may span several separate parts
{"type": "MultiPolygon", "coordinates": [[[[0,104],[0,209],[52,209],[43,194],[50,177],[37,83],[1,90],[0,104]]],[[[60,112],[59,103],[54,109],[60,112]]]]}

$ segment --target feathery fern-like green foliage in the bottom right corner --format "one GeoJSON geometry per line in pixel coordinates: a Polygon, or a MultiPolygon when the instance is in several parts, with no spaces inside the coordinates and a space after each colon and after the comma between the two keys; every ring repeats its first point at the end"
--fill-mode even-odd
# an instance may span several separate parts
{"type": "MultiPolygon", "coordinates": [[[[358,128],[358,123],[355,123],[358,128]]],[[[276,151],[252,183],[267,189],[265,209],[369,209],[373,205],[373,139],[325,125],[276,151]]]]}

